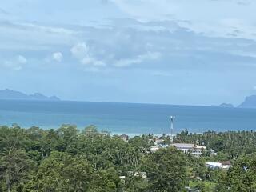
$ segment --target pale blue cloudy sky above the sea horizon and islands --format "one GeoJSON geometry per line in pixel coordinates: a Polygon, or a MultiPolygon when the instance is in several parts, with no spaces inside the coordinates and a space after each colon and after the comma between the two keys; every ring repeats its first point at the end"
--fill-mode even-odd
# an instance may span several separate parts
{"type": "Polygon", "coordinates": [[[63,100],[241,103],[254,0],[2,0],[0,89],[63,100]]]}

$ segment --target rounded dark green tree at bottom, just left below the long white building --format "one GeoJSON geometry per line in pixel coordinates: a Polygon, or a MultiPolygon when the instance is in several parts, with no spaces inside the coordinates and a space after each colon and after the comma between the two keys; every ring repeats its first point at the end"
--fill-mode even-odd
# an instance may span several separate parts
{"type": "Polygon", "coordinates": [[[149,191],[179,192],[186,181],[186,158],[173,147],[161,149],[146,160],[149,191]]]}

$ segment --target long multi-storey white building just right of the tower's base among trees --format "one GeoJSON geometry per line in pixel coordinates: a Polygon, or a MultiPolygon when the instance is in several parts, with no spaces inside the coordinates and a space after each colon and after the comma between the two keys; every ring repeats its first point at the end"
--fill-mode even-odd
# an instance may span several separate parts
{"type": "Polygon", "coordinates": [[[206,146],[198,146],[190,143],[174,143],[171,146],[175,146],[178,150],[182,150],[183,153],[191,153],[196,157],[200,157],[202,152],[210,151],[210,154],[215,154],[214,150],[206,150],[206,146]]]}

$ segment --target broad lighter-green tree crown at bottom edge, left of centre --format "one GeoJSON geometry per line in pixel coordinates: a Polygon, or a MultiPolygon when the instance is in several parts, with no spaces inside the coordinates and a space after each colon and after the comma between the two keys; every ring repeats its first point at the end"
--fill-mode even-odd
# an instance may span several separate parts
{"type": "Polygon", "coordinates": [[[82,158],[53,152],[42,161],[26,191],[87,191],[92,186],[94,171],[82,158]]]}

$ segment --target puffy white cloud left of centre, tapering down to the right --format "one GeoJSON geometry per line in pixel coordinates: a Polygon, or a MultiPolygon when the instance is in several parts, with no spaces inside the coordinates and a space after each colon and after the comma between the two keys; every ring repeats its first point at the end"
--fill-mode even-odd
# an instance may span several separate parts
{"type": "Polygon", "coordinates": [[[95,71],[95,68],[97,67],[106,66],[105,62],[92,56],[90,47],[87,46],[85,42],[78,43],[73,46],[70,51],[73,57],[77,58],[83,66],[88,66],[88,69],[93,68],[95,71]]]}

